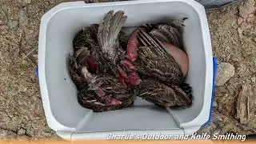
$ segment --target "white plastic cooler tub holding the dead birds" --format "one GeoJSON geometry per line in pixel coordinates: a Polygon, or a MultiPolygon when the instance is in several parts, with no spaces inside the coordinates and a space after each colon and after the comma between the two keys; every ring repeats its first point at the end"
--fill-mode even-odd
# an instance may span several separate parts
{"type": "Polygon", "coordinates": [[[177,131],[186,133],[188,129],[193,133],[209,118],[212,58],[206,13],[198,2],[143,0],[62,3],[42,17],[39,34],[38,73],[48,125],[65,139],[89,138],[90,135],[103,138],[106,135],[102,134],[111,131],[125,134],[127,130],[141,133],[162,130],[176,134],[177,131]],[[183,38],[190,58],[186,81],[193,87],[194,95],[194,103],[189,109],[160,110],[140,98],[133,108],[104,113],[93,113],[78,104],[77,90],[67,69],[68,55],[73,52],[72,41],[78,30],[98,23],[109,10],[124,10],[128,16],[127,27],[139,26],[143,22],[188,18],[183,38]]]}

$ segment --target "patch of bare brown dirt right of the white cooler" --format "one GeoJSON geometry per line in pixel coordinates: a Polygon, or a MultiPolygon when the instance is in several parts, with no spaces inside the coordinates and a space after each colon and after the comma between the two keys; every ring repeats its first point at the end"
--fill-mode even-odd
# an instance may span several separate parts
{"type": "Polygon", "coordinates": [[[253,97],[248,101],[254,101],[254,106],[247,110],[250,118],[243,126],[253,131],[256,130],[255,6],[255,0],[248,0],[207,12],[214,56],[218,62],[229,62],[235,68],[234,76],[225,85],[216,86],[214,112],[236,118],[238,95],[241,94],[242,86],[251,86],[253,97]]]}

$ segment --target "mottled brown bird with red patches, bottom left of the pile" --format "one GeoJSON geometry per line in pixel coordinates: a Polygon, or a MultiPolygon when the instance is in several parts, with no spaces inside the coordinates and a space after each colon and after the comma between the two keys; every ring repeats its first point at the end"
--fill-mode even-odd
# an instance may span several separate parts
{"type": "Polygon", "coordinates": [[[118,82],[113,75],[94,75],[84,67],[83,78],[88,85],[78,93],[78,102],[94,112],[118,110],[132,106],[134,93],[132,89],[118,82]]]}

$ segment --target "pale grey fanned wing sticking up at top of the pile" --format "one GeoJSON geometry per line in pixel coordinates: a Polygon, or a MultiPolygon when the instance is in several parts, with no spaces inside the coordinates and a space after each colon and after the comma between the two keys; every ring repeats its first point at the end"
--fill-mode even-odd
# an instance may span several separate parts
{"type": "Polygon", "coordinates": [[[98,44],[100,49],[102,53],[106,54],[107,58],[113,59],[114,62],[117,59],[118,34],[126,22],[126,18],[127,16],[124,15],[122,10],[115,14],[114,10],[110,10],[103,22],[98,26],[98,44]]]}

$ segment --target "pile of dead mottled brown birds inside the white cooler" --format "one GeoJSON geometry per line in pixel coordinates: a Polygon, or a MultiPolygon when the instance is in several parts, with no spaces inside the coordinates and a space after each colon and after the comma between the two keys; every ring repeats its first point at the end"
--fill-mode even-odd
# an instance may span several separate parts
{"type": "Polygon", "coordinates": [[[79,104],[94,112],[120,110],[138,96],[156,106],[191,106],[181,32],[186,18],[143,24],[130,35],[122,30],[126,19],[124,11],[110,10],[76,34],[70,76],[79,104]]]}

